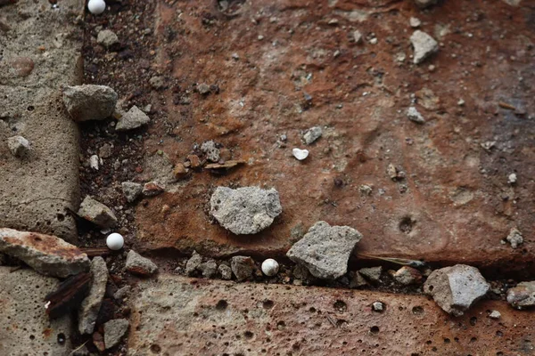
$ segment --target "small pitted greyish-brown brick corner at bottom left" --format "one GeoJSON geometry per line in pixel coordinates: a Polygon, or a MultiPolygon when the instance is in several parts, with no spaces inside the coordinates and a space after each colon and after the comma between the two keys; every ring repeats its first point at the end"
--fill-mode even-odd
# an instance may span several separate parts
{"type": "Polygon", "coordinates": [[[11,270],[0,267],[0,355],[69,355],[70,316],[50,321],[45,314],[45,295],[59,280],[30,269],[11,270]],[[61,334],[64,344],[58,343],[61,334]]]}

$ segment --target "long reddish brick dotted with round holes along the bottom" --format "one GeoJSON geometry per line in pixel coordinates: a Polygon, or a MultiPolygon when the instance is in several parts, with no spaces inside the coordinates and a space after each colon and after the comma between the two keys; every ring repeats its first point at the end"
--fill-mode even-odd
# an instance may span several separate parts
{"type": "Polygon", "coordinates": [[[162,275],[141,282],[131,303],[133,356],[530,354],[535,337],[534,312],[506,302],[452,318],[418,295],[162,275]],[[372,311],[378,301],[384,312],[372,311]]]}

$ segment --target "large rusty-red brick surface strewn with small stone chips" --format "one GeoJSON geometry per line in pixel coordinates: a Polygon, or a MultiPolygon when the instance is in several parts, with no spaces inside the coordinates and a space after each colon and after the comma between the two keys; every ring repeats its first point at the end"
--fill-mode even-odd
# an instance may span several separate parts
{"type": "MultiPolygon", "coordinates": [[[[367,254],[533,270],[529,2],[446,1],[422,12],[409,1],[279,0],[230,2],[232,13],[209,0],[172,3],[157,9],[156,57],[168,88],[154,93],[164,104],[153,109],[167,116],[152,122],[146,161],[180,164],[193,144],[214,140],[248,164],[222,176],[193,172],[140,204],[137,249],[283,255],[295,231],[325,220],[362,232],[358,251],[367,254]],[[411,16],[440,43],[419,66],[410,58],[411,16]],[[363,44],[352,42],[356,29],[363,44]],[[202,96],[202,83],[219,93],[202,96]],[[424,125],[407,119],[413,93],[424,125]],[[323,137],[299,162],[292,148],[305,148],[301,134],[314,125],[323,137]],[[393,182],[390,164],[406,178],[393,182]],[[218,185],[274,187],[284,212],[267,231],[235,237],[210,221],[218,185]],[[513,227],[525,241],[517,249],[500,244],[513,227]]],[[[158,174],[147,164],[140,178],[158,174]]]]}

